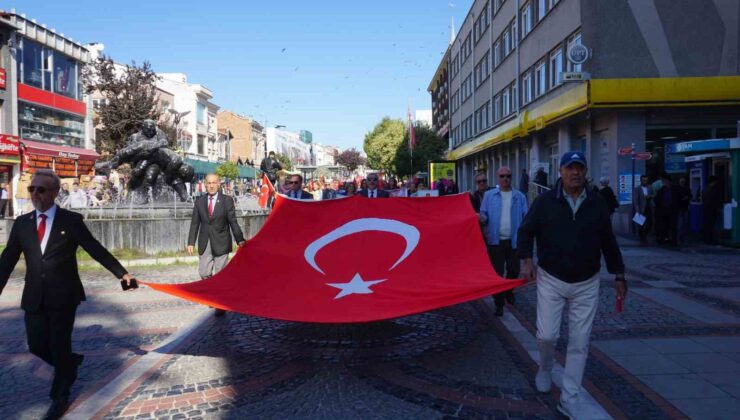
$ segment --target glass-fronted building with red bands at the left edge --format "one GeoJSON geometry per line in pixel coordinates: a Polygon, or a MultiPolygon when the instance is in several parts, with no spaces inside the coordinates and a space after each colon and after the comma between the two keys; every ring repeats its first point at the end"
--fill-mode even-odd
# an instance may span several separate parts
{"type": "Polygon", "coordinates": [[[5,85],[0,89],[0,143],[5,144],[0,146],[0,177],[9,182],[19,214],[29,207],[25,185],[37,169],[53,169],[63,178],[93,173],[99,155],[90,98],[81,81],[91,56],[72,38],[12,10],[0,12],[0,21],[5,85]]]}

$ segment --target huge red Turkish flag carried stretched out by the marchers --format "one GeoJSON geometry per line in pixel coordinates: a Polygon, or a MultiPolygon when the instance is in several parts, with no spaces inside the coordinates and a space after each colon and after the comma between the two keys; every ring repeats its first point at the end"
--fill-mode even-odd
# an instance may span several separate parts
{"type": "Polygon", "coordinates": [[[493,270],[467,194],[325,201],[278,196],[215,276],[154,289],[266,318],[366,322],[512,289],[493,270]]]}

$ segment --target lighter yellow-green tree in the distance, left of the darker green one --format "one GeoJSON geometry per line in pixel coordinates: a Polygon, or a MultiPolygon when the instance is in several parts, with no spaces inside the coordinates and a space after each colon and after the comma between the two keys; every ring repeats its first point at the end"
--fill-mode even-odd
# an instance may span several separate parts
{"type": "Polygon", "coordinates": [[[401,120],[383,118],[365,135],[367,163],[373,169],[396,173],[396,151],[403,142],[406,126],[401,120]]]}

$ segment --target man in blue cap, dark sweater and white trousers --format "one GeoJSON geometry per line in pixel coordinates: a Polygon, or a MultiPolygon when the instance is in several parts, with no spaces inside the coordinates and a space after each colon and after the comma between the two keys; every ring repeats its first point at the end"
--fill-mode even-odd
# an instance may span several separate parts
{"type": "Polygon", "coordinates": [[[616,275],[617,299],[623,301],[627,293],[624,263],[612,232],[609,208],[599,194],[586,188],[586,173],[582,152],[564,154],[560,179],[532,203],[517,242],[517,253],[524,260],[522,274],[537,282],[540,367],[535,385],[540,392],[549,392],[552,386],[555,343],[568,302],[568,349],[558,410],[572,419],[584,418],[579,395],[599,302],[602,254],[607,270],[616,275]],[[535,239],[536,268],[532,262],[535,239]]]}

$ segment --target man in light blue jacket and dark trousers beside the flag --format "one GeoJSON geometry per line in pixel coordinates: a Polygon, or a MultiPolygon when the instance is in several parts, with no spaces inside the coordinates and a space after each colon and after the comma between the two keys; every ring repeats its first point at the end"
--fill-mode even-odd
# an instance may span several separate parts
{"type": "MultiPolygon", "coordinates": [[[[480,206],[480,221],[486,228],[488,258],[499,276],[507,279],[519,277],[520,261],[516,255],[517,230],[527,214],[527,197],[511,188],[511,169],[499,168],[498,188],[483,196],[480,206]]],[[[496,316],[504,315],[506,302],[516,302],[513,290],[493,295],[496,316]]]]}

